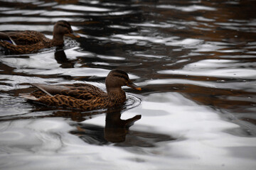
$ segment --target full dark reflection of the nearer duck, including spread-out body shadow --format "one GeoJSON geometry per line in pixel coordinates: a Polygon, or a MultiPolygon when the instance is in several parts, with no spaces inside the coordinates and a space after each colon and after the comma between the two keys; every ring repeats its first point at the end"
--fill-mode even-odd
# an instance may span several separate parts
{"type": "Polygon", "coordinates": [[[140,132],[129,130],[134,122],[140,120],[142,115],[135,115],[127,120],[121,119],[121,111],[107,111],[105,128],[87,123],[74,123],[76,130],[70,133],[78,135],[80,139],[91,145],[114,145],[119,147],[155,147],[156,142],[176,140],[169,135],[153,132],[140,132]]]}

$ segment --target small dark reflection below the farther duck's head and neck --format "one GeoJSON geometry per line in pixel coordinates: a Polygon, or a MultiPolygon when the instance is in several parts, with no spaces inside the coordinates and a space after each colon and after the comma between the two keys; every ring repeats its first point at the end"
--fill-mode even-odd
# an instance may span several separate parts
{"type": "Polygon", "coordinates": [[[62,68],[74,68],[74,63],[71,60],[68,60],[67,56],[65,55],[63,47],[57,47],[54,53],[55,60],[58,64],[61,64],[60,67],[62,68]]]}

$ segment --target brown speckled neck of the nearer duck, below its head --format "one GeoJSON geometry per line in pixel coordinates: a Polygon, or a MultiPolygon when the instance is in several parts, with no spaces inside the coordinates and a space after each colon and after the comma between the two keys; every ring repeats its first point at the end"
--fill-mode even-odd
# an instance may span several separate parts
{"type": "Polygon", "coordinates": [[[126,95],[121,87],[107,89],[107,96],[109,96],[111,101],[120,104],[126,101],[126,95]]]}

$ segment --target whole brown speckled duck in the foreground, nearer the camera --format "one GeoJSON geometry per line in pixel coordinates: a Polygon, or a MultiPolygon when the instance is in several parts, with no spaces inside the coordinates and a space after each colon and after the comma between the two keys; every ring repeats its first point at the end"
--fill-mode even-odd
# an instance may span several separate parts
{"type": "Polygon", "coordinates": [[[120,69],[113,69],[106,77],[107,93],[91,84],[45,85],[33,84],[38,88],[31,94],[21,94],[28,100],[44,103],[48,106],[78,108],[92,111],[100,108],[112,108],[126,101],[122,86],[142,90],[129,79],[128,74],[120,69]]]}

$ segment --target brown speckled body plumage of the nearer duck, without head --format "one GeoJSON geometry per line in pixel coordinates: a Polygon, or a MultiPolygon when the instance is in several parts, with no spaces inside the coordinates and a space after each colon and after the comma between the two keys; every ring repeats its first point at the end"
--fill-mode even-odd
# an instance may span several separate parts
{"type": "MultiPolygon", "coordinates": [[[[39,84],[37,84],[38,86],[39,84]]],[[[71,84],[61,89],[60,86],[40,84],[41,88],[48,91],[53,96],[49,96],[41,90],[34,91],[31,95],[38,98],[38,102],[45,103],[48,106],[62,106],[65,108],[79,108],[82,110],[94,110],[97,108],[109,108],[124,103],[119,96],[115,96],[116,100],[112,100],[96,86],[90,84],[80,84],[80,86],[72,86],[71,84]],[[52,88],[52,89],[51,89],[52,88]],[[51,89],[51,90],[50,90],[51,89]],[[56,90],[60,89],[60,90],[56,90]]]]}

